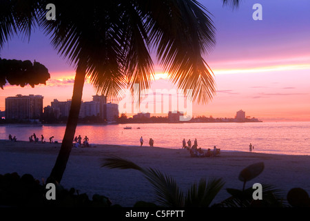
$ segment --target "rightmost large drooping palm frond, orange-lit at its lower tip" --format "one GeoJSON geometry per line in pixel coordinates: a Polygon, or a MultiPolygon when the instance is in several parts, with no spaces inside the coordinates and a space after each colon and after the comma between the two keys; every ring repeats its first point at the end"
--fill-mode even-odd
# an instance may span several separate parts
{"type": "Polygon", "coordinates": [[[215,94],[211,68],[203,55],[216,43],[209,12],[197,1],[147,1],[145,26],[159,64],[192,100],[206,103],[215,94]]]}

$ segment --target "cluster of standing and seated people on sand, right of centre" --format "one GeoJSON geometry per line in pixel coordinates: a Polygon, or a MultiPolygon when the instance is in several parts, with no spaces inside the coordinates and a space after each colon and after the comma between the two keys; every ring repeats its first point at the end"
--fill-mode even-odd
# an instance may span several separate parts
{"type": "Polygon", "coordinates": [[[202,148],[198,148],[198,142],[195,138],[194,145],[192,146],[192,141],[189,139],[187,142],[185,138],[183,139],[183,148],[186,148],[192,157],[215,157],[216,155],[220,154],[220,149],[214,146],[213,151],[210,148],[207,151],[203,151],[202,148]],[[186,146],[187,143],[187,146],[186,146]]]}

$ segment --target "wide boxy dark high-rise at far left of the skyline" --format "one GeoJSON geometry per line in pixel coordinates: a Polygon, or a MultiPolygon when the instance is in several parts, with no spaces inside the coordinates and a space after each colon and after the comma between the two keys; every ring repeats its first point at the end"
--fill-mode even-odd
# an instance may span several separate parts
{"type": "Polygon", "coordinates": [[[42,95],[6,97],[6,119],[39,119],[43,116],[42,95]]]}

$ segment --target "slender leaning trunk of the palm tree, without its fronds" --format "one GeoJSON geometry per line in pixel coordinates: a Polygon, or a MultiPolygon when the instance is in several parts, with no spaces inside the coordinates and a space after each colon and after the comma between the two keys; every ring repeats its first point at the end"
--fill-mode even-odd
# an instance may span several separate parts
{"type": "Polygon", "coordinates": [[[78,64],[74,79],[73,95],[68,116],[68,122],[65,128],[65,135],[63,136],[63,142],[61,143],[59,155],[56,159],[54,168],[52,169],[52,172],[50,173],[50,177],[48,178],[47,182],[56,181],[60,183],[63,177],[63,173],[65,172],[65,167],[69,160],[72,148],[72,141],[74,139],[76,126],[79,119],[85,75],[86,73],[84,66],[78,64]]]}

